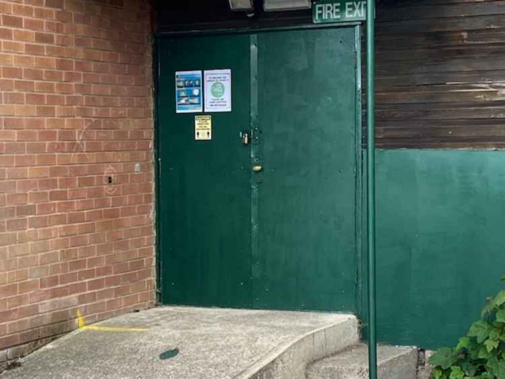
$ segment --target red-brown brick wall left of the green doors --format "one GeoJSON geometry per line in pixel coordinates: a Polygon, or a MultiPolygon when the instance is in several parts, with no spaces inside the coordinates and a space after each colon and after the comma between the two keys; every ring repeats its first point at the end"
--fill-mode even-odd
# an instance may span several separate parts
{"type": "Polygon", "coordinates": [[[0,2],[0,362],[153,305],[149,14],[0,2]]]}

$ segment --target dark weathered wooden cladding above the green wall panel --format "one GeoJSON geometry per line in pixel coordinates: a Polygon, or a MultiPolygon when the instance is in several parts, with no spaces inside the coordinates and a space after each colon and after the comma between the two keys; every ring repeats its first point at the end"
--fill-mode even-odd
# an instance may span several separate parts
{"type": "Polygon", "coordinates": [[[386,4],[376,32],[379,148],[505,148],[505,1],[386,4]]]}

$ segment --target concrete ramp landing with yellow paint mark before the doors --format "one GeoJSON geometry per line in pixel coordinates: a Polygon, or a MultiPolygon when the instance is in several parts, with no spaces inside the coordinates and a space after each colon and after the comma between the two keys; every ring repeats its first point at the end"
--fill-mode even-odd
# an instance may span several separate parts
{"type": "Polygon", "coordinates": [[[354,316],[330,313],[159,307],[95,325],[34,352],[0,379],[267,377],[258,372],[279,357],[313,361],[357,339],[354,316]],[[178,355],[160,359],[175,348],[178,355]]]}

